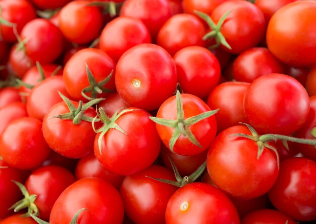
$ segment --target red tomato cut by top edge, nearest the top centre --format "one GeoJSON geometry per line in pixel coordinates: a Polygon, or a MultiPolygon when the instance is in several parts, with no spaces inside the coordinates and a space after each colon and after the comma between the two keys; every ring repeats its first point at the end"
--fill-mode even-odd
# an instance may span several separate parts
{"type": "Polygon", "coordinates": [[[140,19],[148,28],[152,39],[172,16],[170,0],[126,0],[120,16],[140,19]]]}

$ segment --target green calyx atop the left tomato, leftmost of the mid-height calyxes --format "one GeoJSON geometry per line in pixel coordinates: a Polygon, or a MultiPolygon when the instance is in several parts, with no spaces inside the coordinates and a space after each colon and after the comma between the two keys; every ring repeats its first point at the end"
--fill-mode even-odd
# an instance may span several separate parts
{"type": "MultiPolygon", "coordinates": [[[[70,112],[65,113],[65,114],[61,114],[61,115],[57,115],[57,116],[53,116],[51,118],[59,118],[62,120],[73,120],[73,123],[76,125],[80,124],[82,120],[92,122],[93,117],[89,117],[89,116],[85,115],[84,112],[92,105],[98,104],[99,102],[104,100],[104,98],[93,99],[84,105],[83,105],[82,101],[79,101],[78,108],[76,108],[75,105],[71,102],[71,100],[69,100],[67,97],[65,97],[61,92],[58,92],[58,94],[64,100],[64,102],[66,103],[70,112]]],[[[49,118],[49,119],[51,119],[51,118],[49,118]]]]}

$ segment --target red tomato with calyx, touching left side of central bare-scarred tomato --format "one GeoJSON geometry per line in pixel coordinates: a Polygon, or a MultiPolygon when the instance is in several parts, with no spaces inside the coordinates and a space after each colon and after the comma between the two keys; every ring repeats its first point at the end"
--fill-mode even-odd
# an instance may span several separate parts
{"type": "MultiPolygon", "coordinates": [[[[82,100],[87,102],[81,95],[82,89],[90,86],[88,75],[86,72],[86,65],[88,65],[93,77],[97,82],[106,79],[112,70],[115,69],[115,62],[110,56],[99,49],[86,48],[74,54],[66,63],[63,77],[66,85],[67,92],[75,100],[82,100]]],[[[103,85],[112,91],[115,91],[115,76],[114,73],[110,81],[103,85]]],[[[90,93],[86,93],[91,96],[90,93]]],[[[106,94],[98,95],[104,97],[106,94]]]]}

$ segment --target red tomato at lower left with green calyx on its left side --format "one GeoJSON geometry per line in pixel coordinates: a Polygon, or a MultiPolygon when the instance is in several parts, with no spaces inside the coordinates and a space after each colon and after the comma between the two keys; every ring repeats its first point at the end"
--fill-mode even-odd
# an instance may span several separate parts
{"type": "Polygon", "coordinates": [[[75,181],[69,170],[56,165],[40,167],[29,175],[25,187],[30,195],[37,195],[35,204],[41,219],[49,220],[55,201],[75,181]]]}

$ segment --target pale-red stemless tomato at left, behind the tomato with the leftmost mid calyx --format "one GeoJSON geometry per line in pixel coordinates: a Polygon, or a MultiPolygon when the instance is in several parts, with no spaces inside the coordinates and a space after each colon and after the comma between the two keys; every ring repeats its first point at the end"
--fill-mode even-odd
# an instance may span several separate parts
{"type": "Polygon", "coordinates": [[[51,76],[37,84],[26,102],[28,115],[42,120],[52,106],[63,101],[58,92],[69,97],[62,76],[51,76]]]}

